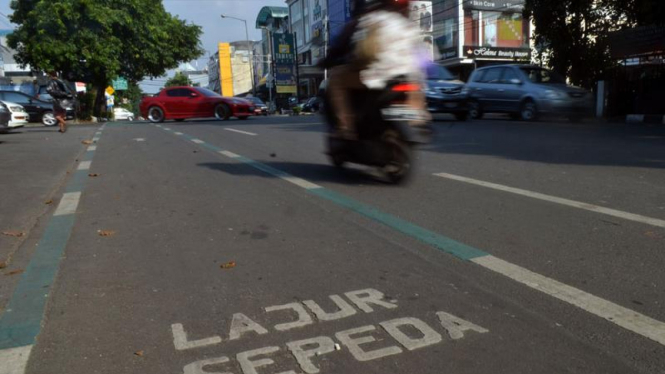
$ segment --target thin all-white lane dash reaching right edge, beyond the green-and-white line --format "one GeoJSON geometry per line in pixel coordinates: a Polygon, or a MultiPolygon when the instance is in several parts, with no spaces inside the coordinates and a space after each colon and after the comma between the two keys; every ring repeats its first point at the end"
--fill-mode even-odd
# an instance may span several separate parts
{"type": "Polygon", "coordinates": [[[549,201],[549,202],[552,202],[552,203],[566,205],[566,206],[570,206],[570,207],[573,207],[573,208],[584,209],[584,210],[588,210],[588,211],[591,211],[591,212],[596,212],[596,213],[606,214],[608,216],[613,216],[613,217],[617,217],[617,218],[626,219],[626,220],[629,220],[629,221],[640,222],[640,223],[645,223],[647,225],[652,225],[652,226],[665,228],[665,220],[658,219],[658,218],[646,217],[646,216],[642,216],[642,215],[639,215],[639,214],[623,212],[623,211],[616,210],[616,209],[610,209],[610,208],[605,208],[605,207],[601,207],[601,206],[598,206],[598,205],[582,203],[582,202],[575,201],[575,200],[563,199],[563,198],[560,198],[560,197],[545,195],[545,194],[538,193],[538,192],[527,191],[527,190],[523,190],[523,189],[520,189],[520,188],[508,187],[508,186],[504,186],[504,185],[501,185],[501,184],[485,182],[485,181],[481,181],[481,180],[473,179],[473,178],[462,177],[462,176],[459,176],[459,175],[453,175],[453,174],[448,174],[448,173],[435,173],[434,175],[436,175],[437,177],[452,179],[452,180],[456,180],[456,181],[459,181],[459,182],[475,184],[477,186],[492,188],[492,189],[499,190],[499,191],[504,191],[504,192],[510,192],[510,193],[514,193],[514,194],[518,194],[518,195],[522,195],[522,196],[531,197],[531,198],[534,198],[534,199],[549,201]]]}

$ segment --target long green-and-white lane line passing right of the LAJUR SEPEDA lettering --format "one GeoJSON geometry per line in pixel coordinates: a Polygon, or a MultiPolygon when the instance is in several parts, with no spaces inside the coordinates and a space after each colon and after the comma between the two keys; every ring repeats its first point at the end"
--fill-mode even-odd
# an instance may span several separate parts
{"type": "MultiPolygon", "coordinates": [[[[189,140],[195,139],[189,135],[184,135],[189,140]]],[[[199,140],[199,139],[196,139],[199,140]]],[[[255,169],[261,170],[269,175],[289,181],[301,188],[307,190],[310,194],[335,203],[338,206],[347,208],[355,213],[363,215],[371,220],[379,222],[407,236],[418,239],[430,246],[458,259],[470,261],[485,269],[510,278],[518,283],[526,285],[531,289],[540,291],[564,301],[581,310],[601,317],[608,322],[620,326],[626,330],[632,331],[643,337],[651,339],[661,345],[665,345],[665,323],[658,321],[634,310],[622,307],[618,304],[604,300],[575,287],[547,278],[534,273],[518,265],[501,260],[492,256],[490,253],[480,249],[458,242],[444,235],[435,233],[416,224],[403,220],[399,217],[382,212],[372,206],[356,201],[346,195],[337,193],[333,190],[324,188],[314,183],[301,183],[301,178],[295,177],[289,173],[275,169],[272,166],[252,160],[242,155],[226,151],[215,145],[201,141],[201,146],[210,149],[217,154],[227,156],[231,159],[245,163],[255,169]],[[298,183],[294,183],[298,180],[298,183]]]]}

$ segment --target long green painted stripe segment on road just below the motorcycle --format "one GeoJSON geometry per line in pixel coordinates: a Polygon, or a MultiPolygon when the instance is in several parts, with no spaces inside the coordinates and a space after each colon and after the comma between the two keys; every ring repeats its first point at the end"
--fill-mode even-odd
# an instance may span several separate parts
{"type": "Polygon", "coordinates": [[[422,228],[418,225],[414,225],[411,222],[405,221],[401,218],[397,218],[388,213],[384,213],[378,209],[372,208],[369,205],[365,205],[356,200],[348,198],[344,195],[338,194],[334,191],[331,191],[326,188],[315,188],[309,190],[310,193],[322,197],[326,200],[332,201],[337,205],[341,205],[345,208],[348,208],[356,213],[362,214],[367,218],[371,218],[377,222],[380,222],[392,229],[395,229],[403,234],[416,238],[422,242],[432,245],[433,247],[450,253],[451,255],[458,257],[462,260],[472,260],[477,257],[483,257],[489,255],[487,252],[483,252],[474,247],[462,244],[458,241],[439,235],[435,232],[422,228]]]}

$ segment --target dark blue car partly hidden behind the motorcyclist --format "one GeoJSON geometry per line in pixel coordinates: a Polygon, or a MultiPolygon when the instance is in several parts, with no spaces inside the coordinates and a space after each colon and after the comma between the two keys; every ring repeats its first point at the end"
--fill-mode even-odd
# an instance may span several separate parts
{"type": "Polygon", "coordinates": [[[427,110],[431,113],[451,113],[460,121],[469,116],[468,92],[464,82],[456,80],[445,67],[430,64],[427,67],[425,87],[427,110]]]}

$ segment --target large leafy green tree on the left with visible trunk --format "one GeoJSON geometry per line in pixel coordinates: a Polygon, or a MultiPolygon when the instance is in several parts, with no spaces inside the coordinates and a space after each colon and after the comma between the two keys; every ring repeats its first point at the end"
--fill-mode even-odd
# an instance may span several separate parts
{"type": "Polygon", "coordinates": [[[16,60],[91,83],[97,115],[111,79],[162,76],[203,54],[201,27],[166,12],[161,0],[12,0],[11,8],[16,60]]]}

